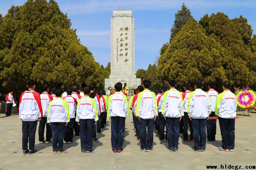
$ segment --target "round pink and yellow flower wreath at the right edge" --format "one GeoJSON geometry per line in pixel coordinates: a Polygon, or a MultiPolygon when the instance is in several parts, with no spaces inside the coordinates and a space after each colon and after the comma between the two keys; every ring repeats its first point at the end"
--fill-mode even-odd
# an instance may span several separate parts
{"type": "Polygon", "coordinates": [[[236,91],[237,105],[244,109],[255,108],[256,92],[251,89],[243,87],[243,89],[236,91]]]}

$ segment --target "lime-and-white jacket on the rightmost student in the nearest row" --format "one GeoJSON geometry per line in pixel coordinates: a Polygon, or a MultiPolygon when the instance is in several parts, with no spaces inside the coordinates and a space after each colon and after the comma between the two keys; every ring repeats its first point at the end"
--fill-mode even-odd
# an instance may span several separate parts
{"type": "Polygon", "coordinates": [[[216,100],[215,115],[221,118],[236,117],[236,96],[230,90],[220,93],[216,100]]]}

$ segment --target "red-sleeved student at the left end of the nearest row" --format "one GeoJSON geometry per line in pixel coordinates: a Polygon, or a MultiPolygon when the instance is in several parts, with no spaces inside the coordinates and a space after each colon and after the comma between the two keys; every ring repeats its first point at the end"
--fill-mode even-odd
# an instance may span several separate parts
{"type": "Polygon", "coordinates": [[[23,154],[36,152],[35,136],[37,121],[43,116],[40,94],[35,92],[35,81],[28,80],[28,91],[20,95],[19,118],[22,121],[22,149],[23,154]],[[28,150],[29,142],[29,150],[28,150]]]}

